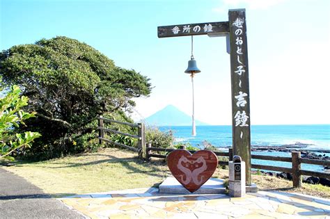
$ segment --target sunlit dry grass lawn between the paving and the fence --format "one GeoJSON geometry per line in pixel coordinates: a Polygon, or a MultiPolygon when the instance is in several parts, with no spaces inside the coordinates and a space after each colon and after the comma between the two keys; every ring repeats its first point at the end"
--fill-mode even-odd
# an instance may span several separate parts
{"type": "MultiPolygon", "coordinates": [[[[171,175],[163,160],[146,163],[137,159],[136,153],[115,148],[3,168],[31,181],[53,197],[157,186],[171,175]]],[[[227,179],[228,170],[218,168],[213,177],[227,179]]],[[[252,181],[261,190],[283,190],[330,198],[327,186],[303,184],[303,188],[294,189],[292,181],[265,175],[252,175],[252,181]]]]}

